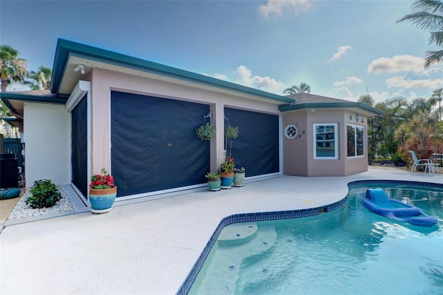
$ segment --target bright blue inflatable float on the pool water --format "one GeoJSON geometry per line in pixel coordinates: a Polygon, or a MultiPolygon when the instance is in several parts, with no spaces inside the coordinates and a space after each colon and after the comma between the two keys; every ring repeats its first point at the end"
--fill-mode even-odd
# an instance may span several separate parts
{"type": "Polygon", "coordinates": [[[431,226],[438,222],[437,218],[426,215],[420,208],[386,197],[381,188],[368,188],[362,204],[370,211],[391,220],[421,226],[431,226]]]}

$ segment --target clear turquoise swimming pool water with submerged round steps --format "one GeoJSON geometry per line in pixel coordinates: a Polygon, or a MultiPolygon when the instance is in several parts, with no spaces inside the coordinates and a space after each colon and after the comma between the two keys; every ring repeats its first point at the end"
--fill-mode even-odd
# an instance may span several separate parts
{"type": "Polygon", "coordinates": [[[370,213],[366,187],[330,213],[226,226],[189,294],[443,294],[443,190],[427,189],[383,188],[431,227],[370,213]]]}

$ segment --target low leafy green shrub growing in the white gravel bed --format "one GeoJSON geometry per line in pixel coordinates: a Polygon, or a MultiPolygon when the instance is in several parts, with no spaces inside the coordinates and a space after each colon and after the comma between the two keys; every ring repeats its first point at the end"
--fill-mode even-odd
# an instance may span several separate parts
{"type": "Polygon", "coordinates": [[[49,208],[57,204],[62,199],[62,194],[53,184],[52,180],[43,179],[34,181],[30,188],[31,196],[26,199],[26,204],[32,208],[49,208]]]}

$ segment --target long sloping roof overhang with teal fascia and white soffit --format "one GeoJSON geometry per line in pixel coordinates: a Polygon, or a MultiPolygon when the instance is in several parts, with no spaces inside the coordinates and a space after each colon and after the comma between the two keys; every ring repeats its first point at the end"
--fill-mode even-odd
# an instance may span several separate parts
{"type": "Polygon", "coordinates": [[[82,77],[94,68],[230,93],[235,96],[266,101],[274,105],[295,102],[293,98],[287,96],[280,96],[225,80],[219,80],[208,75],[192,73],[172,66],[142,60],[138,57],[107,51],[65,39],[58,39],[57,42],[51,92],[58,93],[60,96],[69,96],[78,80],[82,80],[82,77]],[[84,74],[80,71],[74,71],[78,64],[84,65],[84,74]]]}

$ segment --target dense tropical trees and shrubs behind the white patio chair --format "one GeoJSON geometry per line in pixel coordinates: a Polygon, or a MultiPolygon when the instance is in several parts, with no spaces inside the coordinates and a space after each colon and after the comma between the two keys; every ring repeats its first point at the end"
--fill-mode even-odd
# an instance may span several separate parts
{"type": "Polygon", "coordinates": [[[415,151],[419,159],[442,154],[443,124],[437,102],[435,96],[413,100],[397,96],[375,104],[383,115],[368,119],[370,160],[395,159],[408,163],[410,150],[415,151]]]}

